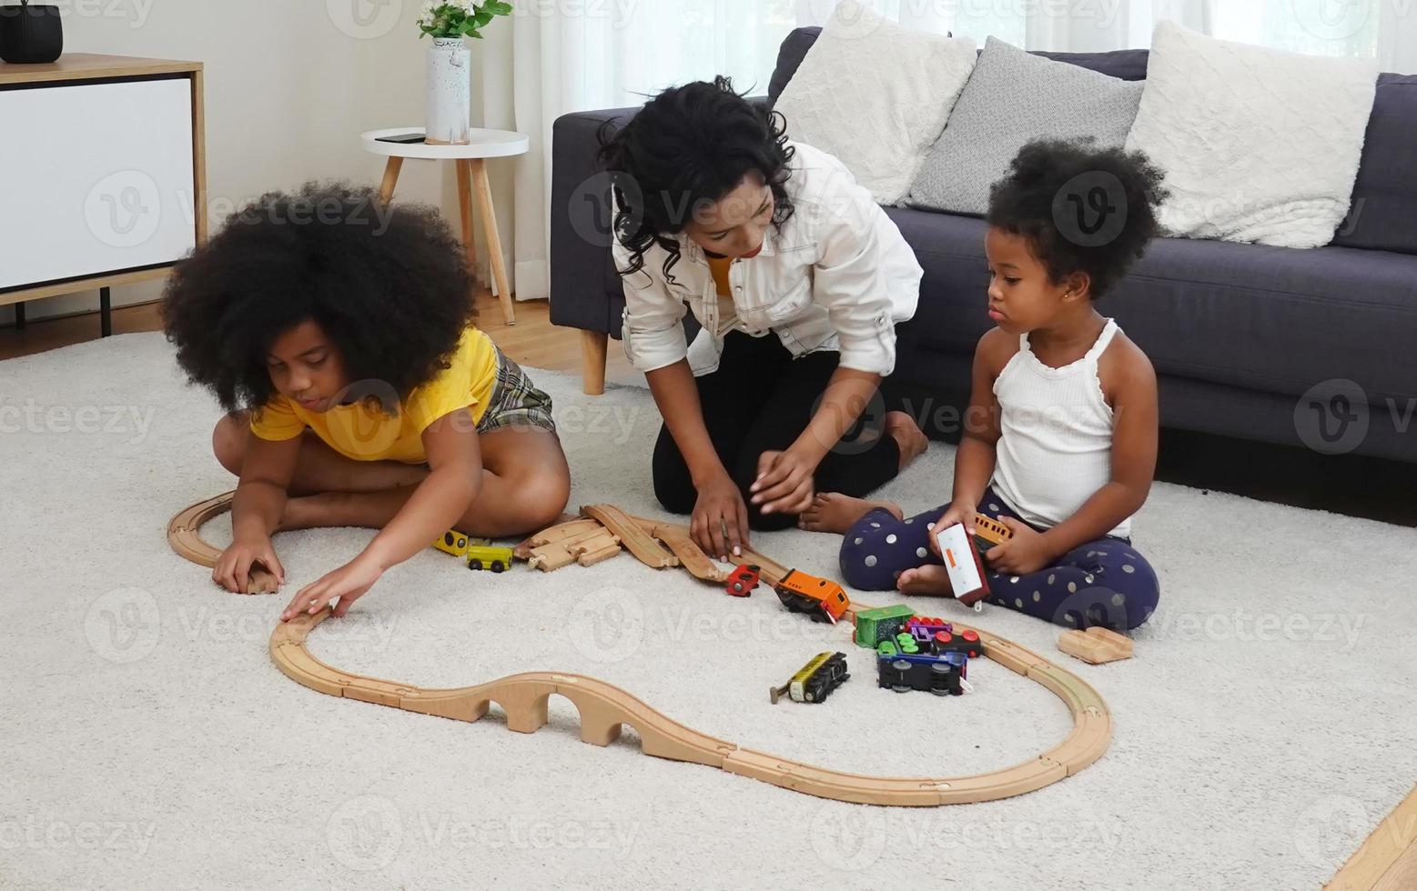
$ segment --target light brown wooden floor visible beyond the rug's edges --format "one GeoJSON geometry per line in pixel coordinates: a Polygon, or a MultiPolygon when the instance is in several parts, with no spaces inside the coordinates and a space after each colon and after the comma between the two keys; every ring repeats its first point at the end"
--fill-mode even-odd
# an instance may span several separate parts
{"type": "MultiPolygon", "coordinates": [[[[517,303],[517,324],[514,326],[502,323],[502,307],[490,292],[479,295],[478,312],[480,327],[517,363],[529,368],[580,374],[580,331],[554,327],[546,300],[517,303]]],[[[113,310],[115,334],[156,330],[162,330],[162,317],[156,303],[113,310]]],[[[82,343],[98,337],[98,334],[96,313],[31,322],[23,331],[3,329],[0,330],[0,360],[82,343]]],[[[605,378],[609,382],[621,384],[643,381],[643,377],[638,375],[625,361],[623,353],[615,348],[615,344],[611,344],[605,378]]],[[[1253,465],[1247,466],[1253,467],[1253,465]]],[[[1271,500],[1295,503],[1282,494],[1280,493],[1280,497],[1271,497],[1271,500]]],[[[1379,506],[1379,513],[1383,513],[1382,506],[1379,506]]],[[[1343,891],[1407,891],[1417,888],[1417,789],[1413,789],[1413,793],[1373,830],[1372,836],[1353,853],[1353,857],[1339,870],[1328,887],[1343,891]]]]}

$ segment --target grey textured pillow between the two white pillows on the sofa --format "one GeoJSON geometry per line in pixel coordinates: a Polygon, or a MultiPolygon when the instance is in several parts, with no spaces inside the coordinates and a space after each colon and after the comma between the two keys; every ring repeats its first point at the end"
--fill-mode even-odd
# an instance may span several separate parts
{"type": "Polygon", "coordinates": [[[1093,137],[1100,149],[1121,147],[1145,85],[1030,55],[990,37],[910,188],[908,204],[982,217],[989,187],[1034,139],[1093,137]]]}

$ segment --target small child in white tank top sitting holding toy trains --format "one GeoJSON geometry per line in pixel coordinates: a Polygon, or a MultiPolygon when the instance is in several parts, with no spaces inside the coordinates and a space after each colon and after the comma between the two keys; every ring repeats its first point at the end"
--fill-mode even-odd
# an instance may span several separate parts
{"type": "Polygon", "coordinates": [[[989,200],[989,317],[944,507],[826,493],[802,528],[845,534],[862,591],[949,595],[935,531],[975,511],[1013,537],[988,551],[990,602],[1070,628],[1132,629],[1156,609],[1156,574],[1131,517],[1156,467],[1156,375],[1094,309],[1158,234],[1161,173],[1142,154],[1032,143],[989,200]],[[934,523],[931,523],[934,520],[934,523]]]}

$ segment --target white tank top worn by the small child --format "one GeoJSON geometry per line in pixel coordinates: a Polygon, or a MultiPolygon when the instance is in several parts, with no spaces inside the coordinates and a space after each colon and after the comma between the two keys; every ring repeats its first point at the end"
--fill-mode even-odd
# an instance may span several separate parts
{"type": "MultiPolygon", "coordinates": [[[[1097,360],[1117,336],[1108,319],[1087,356],[1063,368],[1039,361],[1029,336],[993,384],[1000,429],[993,490],[1030,526],[1051,528],[1112,479],[1112,408],[1097,360]]],[[[1132,518],[1111,535],[1127,538],[1132,518]]]]}

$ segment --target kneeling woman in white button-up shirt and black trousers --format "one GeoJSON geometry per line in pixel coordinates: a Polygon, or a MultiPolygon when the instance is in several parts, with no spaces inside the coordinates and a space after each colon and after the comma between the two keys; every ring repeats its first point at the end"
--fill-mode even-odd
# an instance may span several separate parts
{"type": "Polygon", "coordinates": [[[905,412],[859,424],[922,271],[840,161],[727,78],[662,92],[601,143],[625,353],[665,416],[655,493],[700,547],[727,560],[818,489],[866,494],[925,450],[905,412]]]}

